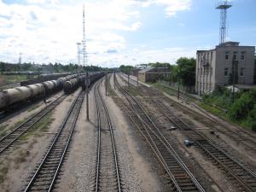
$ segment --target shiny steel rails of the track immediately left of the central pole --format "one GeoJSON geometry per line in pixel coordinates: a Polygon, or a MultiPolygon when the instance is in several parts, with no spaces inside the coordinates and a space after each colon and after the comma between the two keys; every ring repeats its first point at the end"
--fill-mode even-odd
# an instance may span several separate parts
{"type": "MultiPolygon", "coordinates": [[[[84,101],[84,91],[81,91],[79,93],[79,96],[73,102],[71,108],[69,108],[69,110],[67,112],[67,116],[64,119],[60,130],[58,131],[57,135],[55,136],[55,139],[54,139],[53,143],[51,143],[47,153],[44,155],[44,159],[41,161],[40,165],[38,166],[37,171],[33,174],[32,179],[27,184],[26,189],[24,190],[24,192],[28,192],[28,191],[32,190],[32,187],[34,187],[34,183],[36,183],[36,180],[40,177],[40,172],[43,170],[44,166],[47,166],[47,165],[45,165],[45,163],[47,162],[48,158],[50,159],[50,153],[54,153],[54,150],[58,150],[60,148],[60,146],[58,146],[58,144],[59,144],[63,148],[63,150],[61,152],[61,157],[58,158],[58,155],[56,155],[56,158],[58,158],[59,160],[57,160],[57,164],[53,163],[54,164],[53,166],[55,166],[54,167],[54,169],[55,169],[54,173],[55,174],[53,175],[53,177],[51,177],[49,186],[46,186],[46,188],[45,188],[45,190],[47,190],[48,192],[53,189],[55,179],[58,176],[58,173],[60,172],[60,168],[61,168],[62,162],[64,160],[65,154],[67,154],[67,147],[68,147],[68,145],[70,143],[70,140],[73,136],[73,130],[75,128],[77,119],[79,117],[79,111],[80,111],[80,108],[82,106],[83,101],[84,101]],[[70,127],[71,130],[69,131],[69,134],[68,134],[68,137],[67,137],[67,142],[66,143],[61,143],[61,141],[59,139],[61,138],[61,134],[63,133],[64,129],[66,128],[67,121],[70,119],[72,113],[74,113],[74,119],[73,119],[72,125],[70,127]]],[[[42,174],[44,175],[44,173],[42,173],[42,174]]],[[[40,181],[38,181],[38,182],[40,182],[40,181]]]]}

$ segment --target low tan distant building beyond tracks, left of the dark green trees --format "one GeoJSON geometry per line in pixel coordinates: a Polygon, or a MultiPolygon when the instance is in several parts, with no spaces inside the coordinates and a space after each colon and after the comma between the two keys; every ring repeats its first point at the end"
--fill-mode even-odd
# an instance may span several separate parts
{"type": "Polygon", "coordinates": [[[138,71],[138,79],[142,82],[155,82],[157,79],[168,78],[170,70],[167,67],[151,67],[138,71]]]}

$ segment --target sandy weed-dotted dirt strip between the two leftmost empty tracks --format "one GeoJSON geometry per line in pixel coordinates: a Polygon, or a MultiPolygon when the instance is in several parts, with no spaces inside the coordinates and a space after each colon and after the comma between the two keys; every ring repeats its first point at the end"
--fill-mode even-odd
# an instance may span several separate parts
{"type": "MultiPolygon", "coordinates": [[[[47,148],[49,148],[49,143],[55,137],[55,133],[61,126],[61,122],[67,115],[68,108],[71,106],[74,96],[78,95],[78,93],[79,90],[67,96],[54,109],[52,115],[49,116],[52,122],[47,129],[29,132],[9,152],[0,156],[0,170],[2,173],[5,173],[3,181],[0,184],[0,191],[16,192],[24,189],[27,179],[32,176],[36,166],[41,162],[47,148]]],[[[25,117],[26,114],[22,113],[17,119],[25,117]]]]}

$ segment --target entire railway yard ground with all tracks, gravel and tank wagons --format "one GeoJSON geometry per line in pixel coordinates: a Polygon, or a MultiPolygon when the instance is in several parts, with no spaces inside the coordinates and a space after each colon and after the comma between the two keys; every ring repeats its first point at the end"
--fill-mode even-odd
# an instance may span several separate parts
{"type": "Polygon", "coordinates": [[[0,191],[256,191],[253,131],[123,73],[90,73],[87,120],[84,79],[3,91],[0,191]]]}

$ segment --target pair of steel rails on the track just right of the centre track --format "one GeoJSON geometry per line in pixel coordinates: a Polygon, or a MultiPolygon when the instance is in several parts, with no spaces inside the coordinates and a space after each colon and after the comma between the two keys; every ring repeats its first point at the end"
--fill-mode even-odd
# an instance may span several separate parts
{"type": "MultiPolygon", "coordinates": [[[[150,122],[152,125],[154,125],[153,121],[148,117],[148,114],[145,112],[144,108],[137,102],[137,100],[136,100],[133,96],[131,96],[128,91],[126,91],[125,89],[123,89],[119,84],[118,84],[118,87],[119,87],[119,89],[121,90],[121,92],[124,94],[124,96],[125,96],[125,94],[127,94],[127,95],[131,98],[131,100],[136,103],[136,105],[138,106],[138,108],[141,108],[141,110],[142,110],[143,113],[146,115],[146,118],[149,120],[149,122],[150,122]]],[[[128,96],[125,96],[125,98],[126,98],[126,99],[128,100],[128,102],[131,104],[131,106],[134,106],[134,104],[132,104],[132,102],[131,102],[131,100],[128,98],[128,96]]],[[[191,178],[191,181],[195,184],[196,188],[197,188],[199,191],[205,191],[205,190],[201,187],[201,184],[196,180],[196,178],[194,177],[194,175],[189,171],[188,167],[185,166],[185,164],[183,163],[183,160],[180,159],[179,155],[176,153],[176,151],[174,150],[174,148],[172,148],[171,144],[166,140],[166,137],[164,137],[164,136],[161,134],[161,132],[159,131],[159,129],[157,128],[157,126],[154,125],[154,128],[157,130],[158,134],[156,134],[155,131],[153,131],[153,129],[152,129],[147,123],[145,123],[145,121],[143,120],[143,118],[141,117],[141,115],[140,115],[138,112],[136,112],[136,108],[135,108],[135,107],[133,107],[133,108],[135,109],[135,110],[133,110],[133,111],[135,111],[135,113],[137,114],[137,116],[139,117],[139,119],[141,119],[141,120],[143,121],[144,125],[147,125],[148,128],[149,128],[149,130],[154,134],[154,136],[158,138],[157,141],[161,142],[161,143],[167,148],[167,150],[172,154],[172,156],[175,158],[175,160],[177,160],[178,164],[179,164],[181,167],[183,167],[183,170],[189,175],[189,177],[191,178]]],[[[146,129],[145,131],[147,131],[147,129],[146,129]]],[[[149,134],[149,133],[148,133],[148,137],[149,137],[149,139],[154,143],[155,148],[158,149],[158,148],[156,147],[156,143],[154,142],[154,140],[152,139],[152,137],[150,137],[150,134],[149,134]]],[[[159,152],[159,150],[158,150],[158,152],[159,152]]],[[[165,161],[163,157],[161,157],[161,160],[165,161]]],[[[166,167],[166,166],[167,166],[167,165],[165,164],[164,167],[166,167]]],[[[169,170],[167,169],[166,171],[167,171],[167,172],[171,172],[170,169],[169,169],[169,170]]],[[[178,183],[177,183],[175,177],[172,177],[172,172],[171,172],[171,175],[169,174],[169,176],[171,176],[173,183],[174,183],[174,184],[176,185],[176,187],[177,187],[177,190],[178,190],[178,191],[182,191],[182,189],[179,187],[179,185],[178,185],[178,183]]]]}

